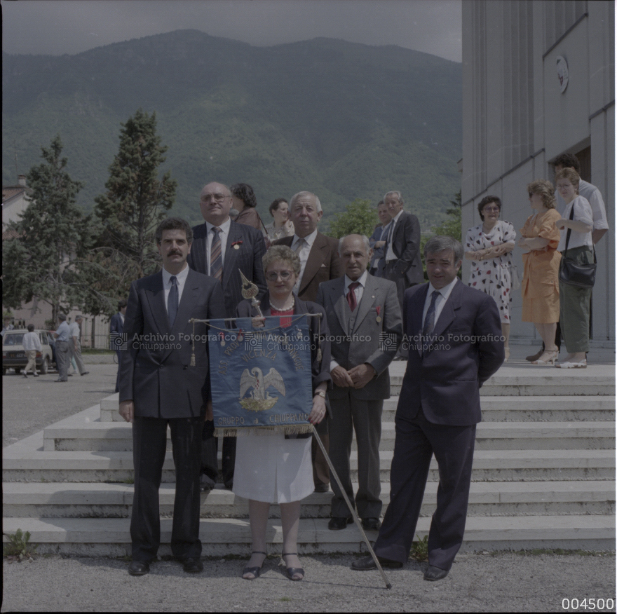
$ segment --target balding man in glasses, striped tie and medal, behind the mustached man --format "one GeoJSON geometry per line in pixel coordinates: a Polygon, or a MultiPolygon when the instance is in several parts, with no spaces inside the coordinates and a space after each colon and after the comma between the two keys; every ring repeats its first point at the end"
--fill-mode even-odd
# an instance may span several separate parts
{"type": "MultiPolygon", "coordinates": [[[[225,296],[225,317],[235,318],[242,296],[242,271],[245,278],[259,288],[258,298],[266,293],[266,278],[262,256],[266,243],[257,228],[236,224],[229,217],[231,191],[224,184],[212,182],[203,186],[199,206],[205,222],[194,226],[194,243],[189,254],[189,266],[198,273],[210,275],[221,282],[225,296]]],[[[207,421],[203,428],[202,490],[208,491],[218,476],[217,439],[214,423],[207,421]]],[[[236,463],[236,437],[223,439],[222,482],[231,489],[233,466],[236,463]]]]}

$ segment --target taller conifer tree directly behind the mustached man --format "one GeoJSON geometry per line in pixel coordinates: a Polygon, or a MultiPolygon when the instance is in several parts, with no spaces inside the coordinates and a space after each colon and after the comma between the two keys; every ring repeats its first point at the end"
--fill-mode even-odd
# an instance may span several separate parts
{"type": "Polygon", "coordinates": [[[138,109],[122,124],[120,147],[109,166],[107,191],[95,198],[100,221],[93,270],[104,271],[93,286],[93,313],[112,313],[130,282],[154,273],[158,251],[154,231],[175,199],[177,182],[170,172],[159,179],[167,147],[156,134],[156,114],[138,109]]]}

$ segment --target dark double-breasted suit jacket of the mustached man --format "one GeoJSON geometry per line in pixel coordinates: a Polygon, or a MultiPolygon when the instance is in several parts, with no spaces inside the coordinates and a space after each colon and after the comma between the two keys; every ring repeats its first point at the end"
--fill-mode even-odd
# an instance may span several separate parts
{"type": "Polygon", "coordinates": [[[208,328],[205,324],[193,328],[189,320],[224,317],[221,285],[208,275],[189,269],[172,328],[163,273],[134,281],[124,318],[127,348],[120,364],[120,401],[133,400],[135,416],[144,418],[203,415],[210,400],[208,328]],[[196,363],[191,367],[193,350],[196,363]]]}

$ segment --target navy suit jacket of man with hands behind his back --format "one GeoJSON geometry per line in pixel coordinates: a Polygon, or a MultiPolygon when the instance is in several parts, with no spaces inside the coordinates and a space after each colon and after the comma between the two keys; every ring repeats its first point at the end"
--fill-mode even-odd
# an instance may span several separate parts
{"type": "Polygon", "coordinates": [[[491,296],[456,280],[435,323],[433,343],[421,353],[427,292],[428,283],[405,291],[403,330],[409,357],[396,415],[414,418],[422,407],[434,424],[477,424],[482,421],[480,386],[505,357],[499,309],[491,296]]]}

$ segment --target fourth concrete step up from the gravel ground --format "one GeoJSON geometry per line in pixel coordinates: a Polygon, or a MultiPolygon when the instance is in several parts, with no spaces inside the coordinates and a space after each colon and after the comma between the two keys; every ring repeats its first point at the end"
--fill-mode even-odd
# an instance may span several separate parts
{"type": "MultiPolygon", "coordinates": [[[[65,421],[65,424],[68,421],[65,421]]],[[[382,451],[394,449],[393,422],[381,425],[382,451]]],[[[171,450],[170,431],[167,435],[171,450]]],[[[477,425],[479,450],[611,449],[615,447],[615,423],[609,422],[486,422],[477,425]]],[[[130,451],[133,429],[129,423],[90,422],[74,427],[52,425],[43,431],[45,451],[130,451]]],[[[352,449],[356,449],[355,437],[352,449]]]]}

